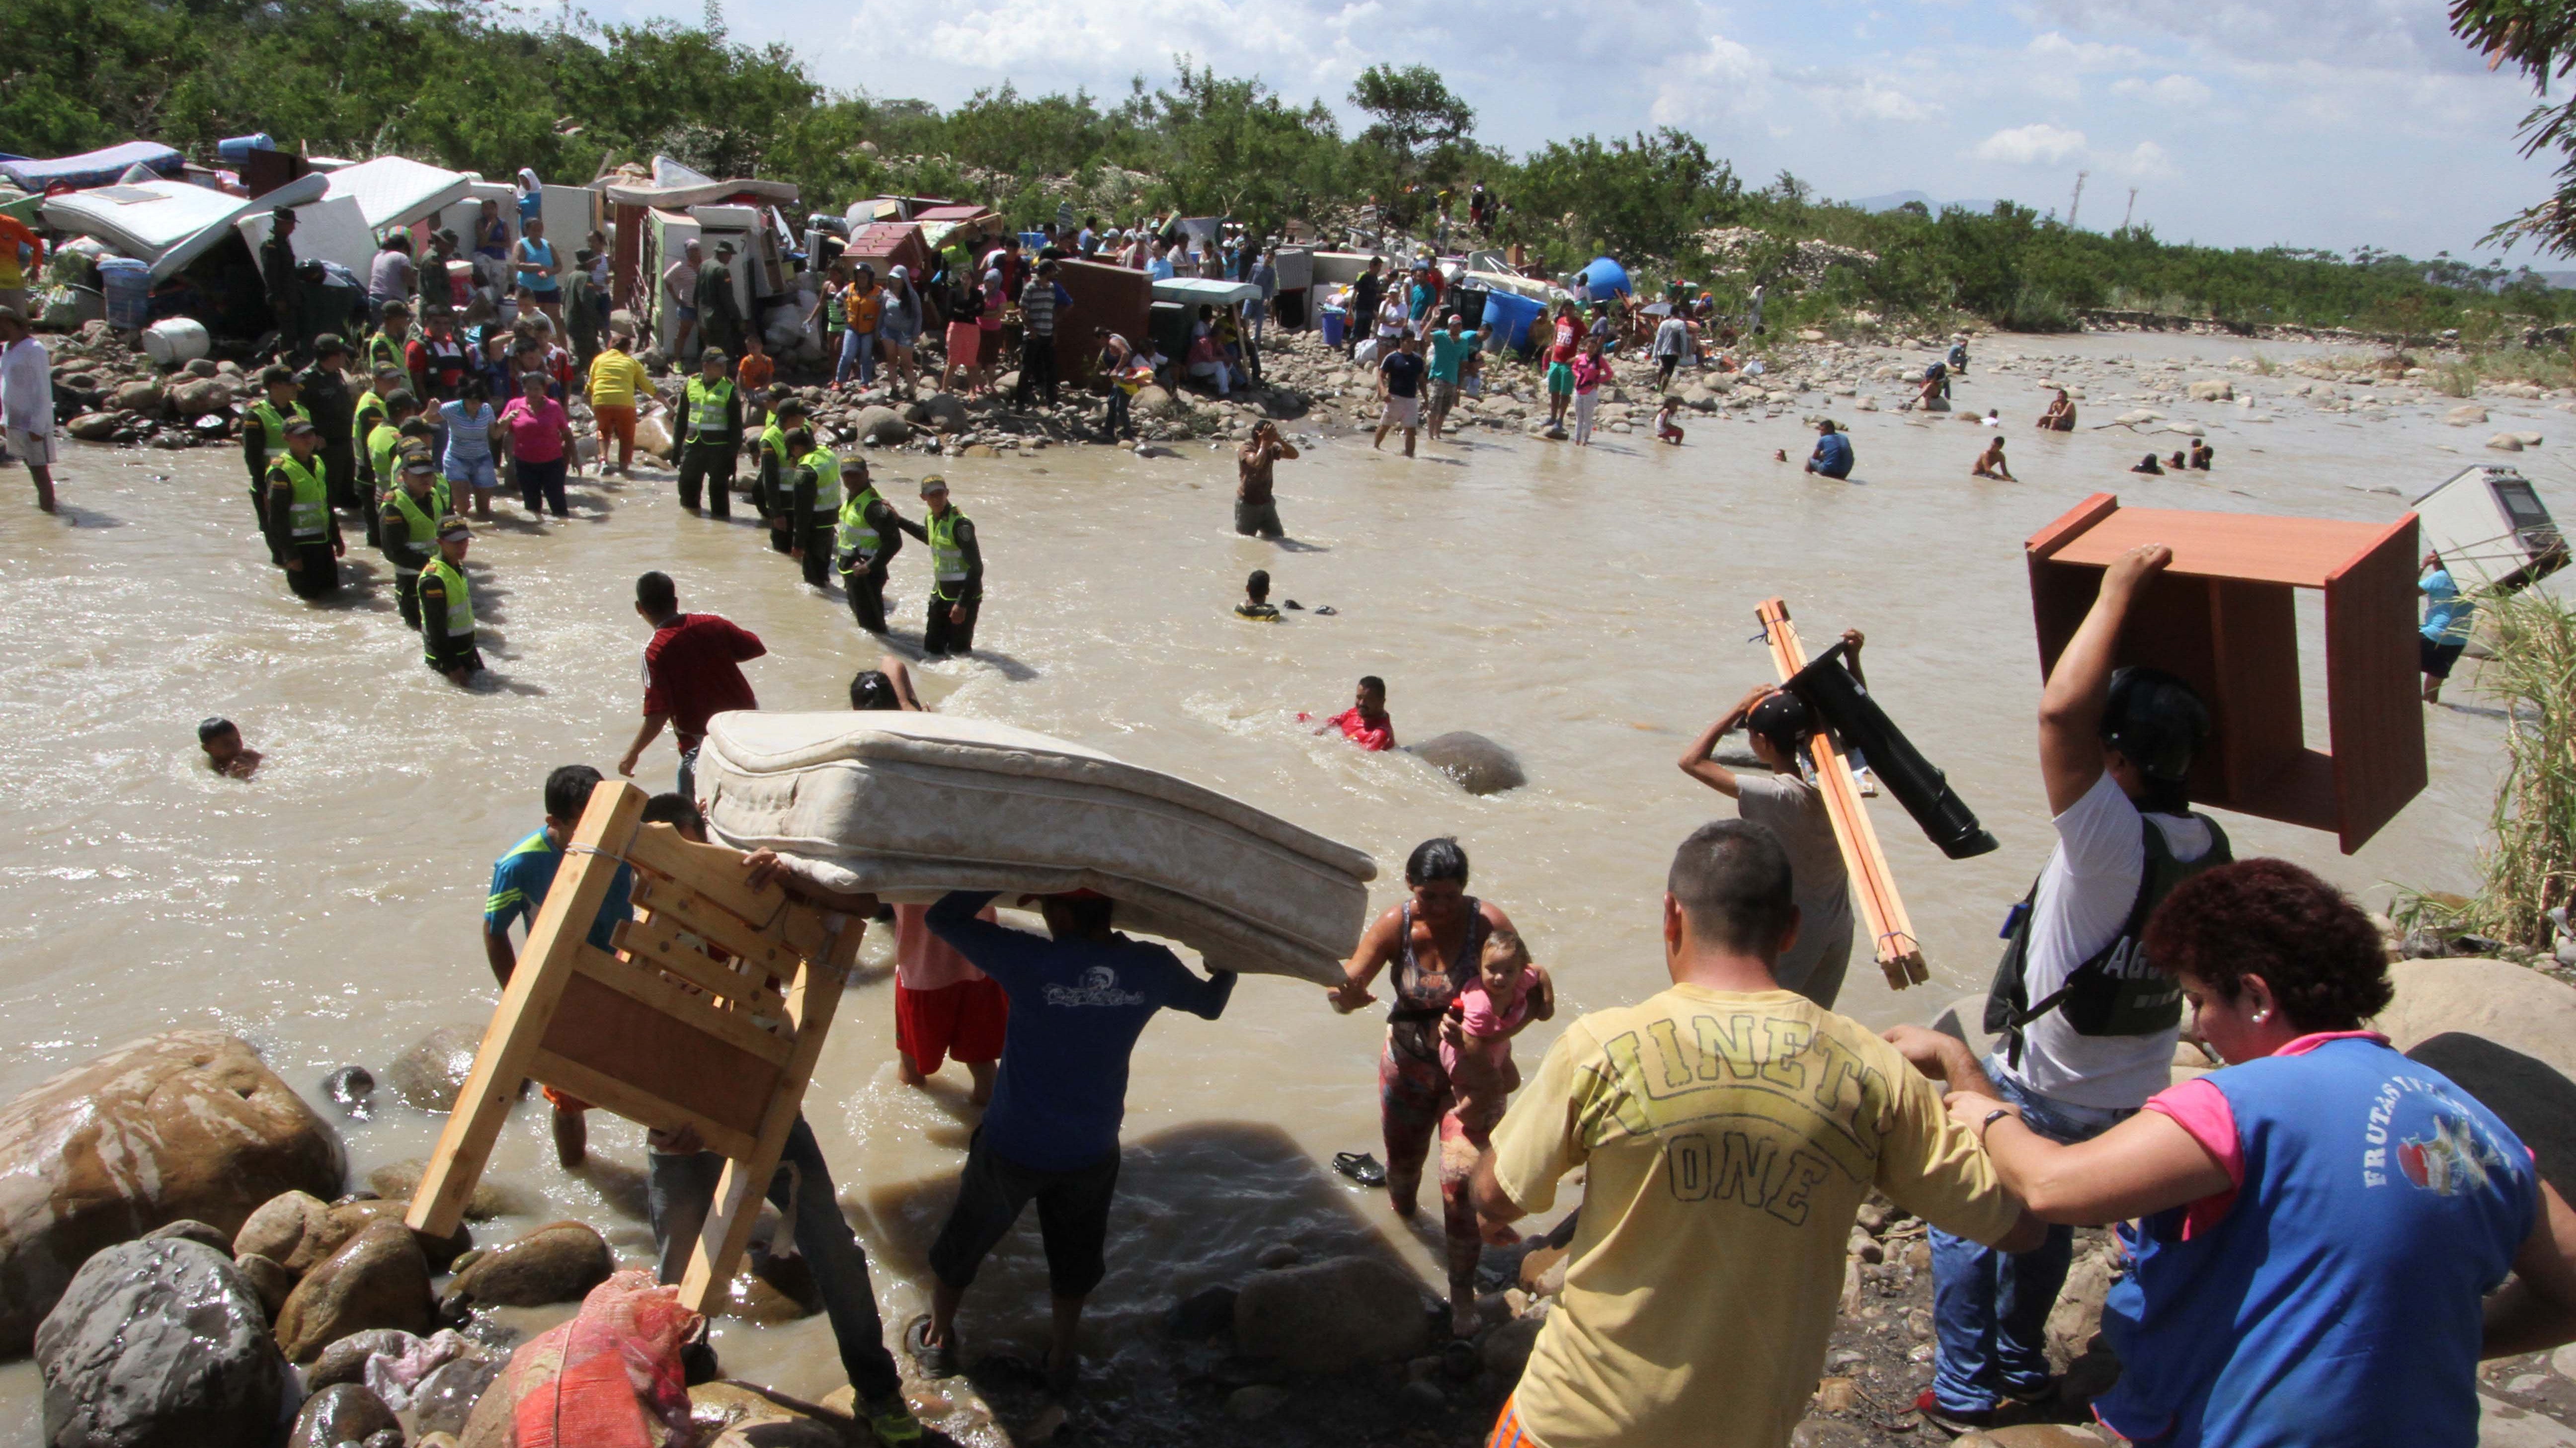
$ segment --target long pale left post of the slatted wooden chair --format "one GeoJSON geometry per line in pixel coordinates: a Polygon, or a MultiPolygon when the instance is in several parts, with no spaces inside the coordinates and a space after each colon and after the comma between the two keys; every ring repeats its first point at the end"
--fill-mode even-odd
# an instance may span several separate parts
{"type": "Polygon", "coordinates": [[[466,1074],[464,1090],[456,1092],[456,1110],[448,1113],[438,1149],[430,1152],[430,1165],[412,1190],[404,1221],[415,1232],[448,1237],[464,1221],[466,1198],[482,1180],[492,1141],[500,1139],[500,1126],[518,1098],[518,1082],[528,1077],[528,1062],[536,1056],[564,984],[574,974],[574,951],[585,948],[582,938],[616,884],[616,855],[626,853],[641,814],[644,791],[626,781],[600,781],[590,791],[590,806],[582,809],[582,822],[572,830],[572,848],[528,925],[528,948],[520,953],[518,969],[510,971],[500,1010],[492,1013],[482,1049],[474,1051],[474,1069],[466,1074]]]}

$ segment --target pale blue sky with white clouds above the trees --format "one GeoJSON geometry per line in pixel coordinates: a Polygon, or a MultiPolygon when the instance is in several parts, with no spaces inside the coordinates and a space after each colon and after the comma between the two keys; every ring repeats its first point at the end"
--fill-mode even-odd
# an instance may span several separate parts
{"type": "Polygon", "coordinates": [[[2473,255],[2548,188],[2512,144],[2530,88],[2488,75],[2442,0],[732,0],[726,23],[793,44],[827,85],[940,106],[1002,80],[1118,95],[1190,54],[1347,119],[1360,67],[1425,62],[1515,149],[1669,124],[1754,183],[1788,167],[1839,198],[2061,214],[2089,170],[2081,224],[2115,227],[2136,186],[2141,222],[2213,245],[2473,255]]]}

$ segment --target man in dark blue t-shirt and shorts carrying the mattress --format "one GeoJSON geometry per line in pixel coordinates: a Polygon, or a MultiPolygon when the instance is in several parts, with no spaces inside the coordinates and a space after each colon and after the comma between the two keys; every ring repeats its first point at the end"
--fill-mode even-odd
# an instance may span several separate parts
{"type": "Polygon", "coordinates": [[[976,920],[989,899],[992,891],[951,891],[925,915],[933,935],[1010,995],[1010,1028],[992,1105],[966,1147],[958,1201],[930,1244],[930,1314],[904,1329],[904,1348],[925,1376],[956,1376],[958,1304],[984,1255],[1036,1198],[1056,1309],[1046,1378],[1069,1391],[1082,1299],[1108,1273],[1128,1054],[1167,1005],[1203,1020],[1224,1015],[1234,971],[1198,979],[1164,946],[1118,935],[1113,902],[1092,891],[1041,899],[1054,940],[976,920]]]}

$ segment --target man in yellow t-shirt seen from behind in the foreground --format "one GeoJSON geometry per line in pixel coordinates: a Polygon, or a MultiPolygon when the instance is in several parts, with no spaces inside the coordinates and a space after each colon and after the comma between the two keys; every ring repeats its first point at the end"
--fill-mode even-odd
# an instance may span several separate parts
{"type": "Polygon", "coordinates": [[[1473,1180],[1489,1224],[1589,1180],[1492,1448],[1783,1448],[1870,1188],[1960,1237],[2040,1242],[1940,1087],[1772,982],[1795,935],[1780,843],[1703,824],[1664,891],[1672,989],[1574,1020],[1494,1129],[1473,1180]]]}

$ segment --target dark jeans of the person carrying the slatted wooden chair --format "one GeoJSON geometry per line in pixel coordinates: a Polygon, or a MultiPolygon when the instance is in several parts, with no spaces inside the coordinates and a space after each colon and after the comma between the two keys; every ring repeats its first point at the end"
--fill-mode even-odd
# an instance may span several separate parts
{"type": "MultiPolygon", "coordinates": [[[[647,1167],[659,1275],[665,1283],[677,1283],[688,1270],[698,1229],[706,1226],[706,1211],[716,1201],[724,1157],[714,1152],[693,1157],[649,1152],[647,1167]]],[[[894,1353],[886,1353],[886,1319],[876,1311],[868,1250],[858,1244],[850,1219],[840,1214],[840,1201],[832,1196],[832,1170],[824,1167],[822,1147],[814,1144],[814,1129],[806,1126],[804,1116],[788,1131],[768,1196],[778,1211],[796,1214],[791,1221],[796,1250],[814,1268],[822,1309],[832,1319],[832,1340],[840,1342],[840,1366],[850,1373],[860,1404],[894,1399],[904,1391],[904,1381],[894,1371],[894,1353]]]]}

